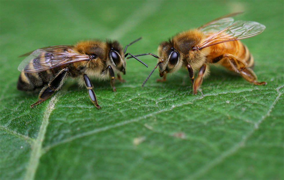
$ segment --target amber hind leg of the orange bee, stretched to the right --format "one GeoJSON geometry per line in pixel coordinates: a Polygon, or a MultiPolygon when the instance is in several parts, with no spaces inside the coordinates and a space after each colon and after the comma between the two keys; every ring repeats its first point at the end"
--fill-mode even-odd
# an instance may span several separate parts
{"type": "Polygon", "coordinates": [[[229,70],[239,73],[245,80],[249,81],[250,83],[254,83],[256,85],[267,84],[265,81],[263,82],[256,81],[257,77],[254,74],[253,70],[251,68],[248,68],[247,64],[243,62],[243,60],[239,59],[238,57],[235,57],[234,55],[223,54],[219,57],[216,57],[214,60],[218,60],[218,61],[223,60],[221,62],[223,66],[225,66],[229,70]],[[227,59],[229,61],[224,61],[224,59],[227,59]]]}

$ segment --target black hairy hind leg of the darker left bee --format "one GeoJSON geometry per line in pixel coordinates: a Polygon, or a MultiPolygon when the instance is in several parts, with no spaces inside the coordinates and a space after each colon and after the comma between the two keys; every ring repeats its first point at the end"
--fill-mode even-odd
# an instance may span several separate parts
{"type": "Polygon", "coordinates": [[[58,91],[64,82],[68,70],[69,70],[68,68],[64,68],[59,73],[57,73],[57,75],[48,83],[48,86],[45,86],[44,88],[41,89],[39,93],[39,100],[37,100],[37,102],[33,103],[32,105],[30,105],[30,107],[38,105],[39,103],[45,101],[50,96],[52,96],[52,94],[55,91],[58,91]]]}

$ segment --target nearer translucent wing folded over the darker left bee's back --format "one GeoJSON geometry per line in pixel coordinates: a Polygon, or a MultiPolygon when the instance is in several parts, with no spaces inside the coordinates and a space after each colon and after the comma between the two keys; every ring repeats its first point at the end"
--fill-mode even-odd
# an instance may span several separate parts
{"type": "Polygon", "coordinates": [[[89,55],[37,49],[21,62],[18,70],[25,73],[36,73],[65,64],[87,60],[90,60],[89,55]]]}

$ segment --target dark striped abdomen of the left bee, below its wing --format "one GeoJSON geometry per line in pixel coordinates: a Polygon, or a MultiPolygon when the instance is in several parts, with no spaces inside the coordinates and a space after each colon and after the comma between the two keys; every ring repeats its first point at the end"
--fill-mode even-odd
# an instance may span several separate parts
{"type": "Polygon", "coordinates": [[[17,89],[22,91],[32,91],[42,88],[59,72],[61,68],[41,71],[38,73],[21,72],[17,83],[17,89]]]}

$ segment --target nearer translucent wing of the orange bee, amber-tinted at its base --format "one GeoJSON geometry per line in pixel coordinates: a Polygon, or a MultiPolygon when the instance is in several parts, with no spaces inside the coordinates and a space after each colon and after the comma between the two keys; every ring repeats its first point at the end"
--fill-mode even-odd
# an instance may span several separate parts
{"type": "Polygon", "coordinates": [[[265,25],[254,21],[235,21],[229,27],[226,27],[225,29],[203,40],[200,44],[196,45],[194,49],[200,50],[205,47],[227,41],[249,38],[260,34],[262,31],[264,31],[264,29],[265,25]]]}

